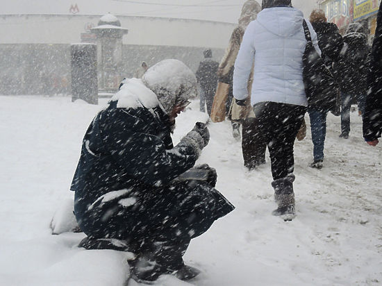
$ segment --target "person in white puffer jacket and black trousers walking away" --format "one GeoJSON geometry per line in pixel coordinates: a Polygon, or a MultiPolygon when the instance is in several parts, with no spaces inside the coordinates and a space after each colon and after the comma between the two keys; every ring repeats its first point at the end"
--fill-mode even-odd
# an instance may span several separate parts
{"type": "MultiPolygon", "coordinates": [[[[233,73],[233,96],[241,105],[247,99],[247,82],[254,65],[251,105],[258,118],[271,158],[274,215],[284,220],[294,210],[294,138],[304,119],[308,101],[304,90],[302,58],[306,47],[304,15],[291,0],[263,0],[244,33],[233,73]]],[[[317,35],[306,20],[315,49],[317,35]]]]}

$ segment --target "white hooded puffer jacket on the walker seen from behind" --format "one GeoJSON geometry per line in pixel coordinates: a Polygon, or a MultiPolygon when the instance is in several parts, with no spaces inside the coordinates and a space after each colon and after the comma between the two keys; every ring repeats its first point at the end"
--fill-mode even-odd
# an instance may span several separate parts
{"type": "MultiPolygon", "coordinates": [[[[290,7],[267,8],[258,13],[244,33],[233,73],[233,96],[246,99],[254,65],[251,105],[262,101],[307,106],[302,80],[306,47],[304,15],[290,7]]],[[[317,35],[308,20],[310,35],[319,51],[317,35]]]]}

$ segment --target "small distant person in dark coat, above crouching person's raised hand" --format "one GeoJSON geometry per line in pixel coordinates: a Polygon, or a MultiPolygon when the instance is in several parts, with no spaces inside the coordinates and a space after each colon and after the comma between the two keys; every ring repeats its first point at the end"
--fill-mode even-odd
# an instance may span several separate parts
{"type": "Polygon", "coordinates": [[[217,67],[219,62],[212,59],[213,51],[207,49],[204,51],[204,60],[200,62],[196,76],[201,87],[203,98],[201,98],[201,110],[204,109],[206,102],[208,116],[211,116],[211,108],[213,107],[213,96],[215,95],[217,85],[217,67]]]}

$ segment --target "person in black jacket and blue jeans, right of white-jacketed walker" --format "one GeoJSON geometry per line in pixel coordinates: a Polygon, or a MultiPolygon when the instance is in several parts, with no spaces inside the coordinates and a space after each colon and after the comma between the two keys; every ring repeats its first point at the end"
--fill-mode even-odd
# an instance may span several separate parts
{"type": "MultiPolygon", "coordinates": [[[[322,59],[331,72],[333,72],[333,62],[338,60],[343,46],[342,36],[338,27],[333,23],[326,22],[323,10],[315,9],[310,14],[310,23],[317,33],[318,46],[321,50],[322,59]]],[[[326,116],[329,110],[319,110],[308,108],[310,118],[310,130],[313,141],[313,162],[310,167],[321,169],[324,161],[324,143],[326,137],[326,116]]]]}

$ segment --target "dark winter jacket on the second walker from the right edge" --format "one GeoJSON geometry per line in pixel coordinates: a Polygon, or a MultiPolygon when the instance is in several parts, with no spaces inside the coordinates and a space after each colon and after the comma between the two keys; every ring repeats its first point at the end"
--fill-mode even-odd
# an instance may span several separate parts
{"type": "Polygon", "coordinates": [[[364,33],[347,33],[335,70],[340,91],[351,96],[366,94],[369,46],[364,33]]]}

